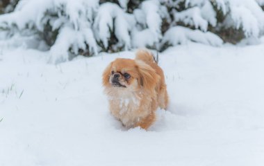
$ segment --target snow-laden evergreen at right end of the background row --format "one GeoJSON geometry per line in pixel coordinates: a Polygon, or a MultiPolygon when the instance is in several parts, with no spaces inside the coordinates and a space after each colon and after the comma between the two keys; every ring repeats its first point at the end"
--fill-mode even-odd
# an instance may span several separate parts
{"type": "Polygon", "coordinates": [[[262,0],[164,0],[162,3],[172,16],[163,46],[166,42],[175,45],[189,40],[218,46],[222,39],[236,43],[244,37],[263,35],[262,0]]]}

